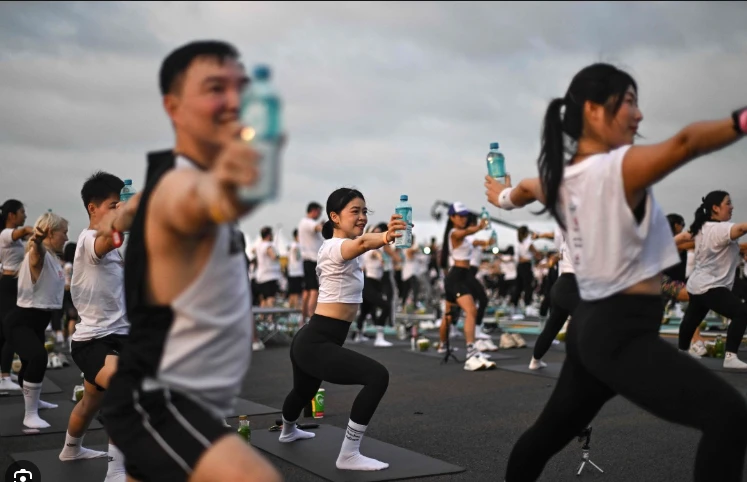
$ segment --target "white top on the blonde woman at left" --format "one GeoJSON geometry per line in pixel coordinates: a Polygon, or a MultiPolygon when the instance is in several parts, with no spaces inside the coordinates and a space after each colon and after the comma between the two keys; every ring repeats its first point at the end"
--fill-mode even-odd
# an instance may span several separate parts
{"type": "Polygon", "coordinates": [[[21,308],[40,310],[59,310],[62,308],[62,297],[65,294],[65,273],[60,260],[47,250],[44,253],[44,265],[36,283],[31,281],[31,266],[28,253],[23,258],[18,270],[18,299],[21,308]]]}

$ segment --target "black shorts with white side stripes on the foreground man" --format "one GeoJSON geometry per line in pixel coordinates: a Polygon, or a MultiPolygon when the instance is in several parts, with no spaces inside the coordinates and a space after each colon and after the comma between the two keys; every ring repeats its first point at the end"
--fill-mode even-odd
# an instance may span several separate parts
{"type": "Polygon", "coordinates": [[[107,434],[124,454],[127,474],[143,482],[186,482],[205,451],[233,433],[186,395],[145,392],[120,373],[112,378],[101,413],[107,434]]]}

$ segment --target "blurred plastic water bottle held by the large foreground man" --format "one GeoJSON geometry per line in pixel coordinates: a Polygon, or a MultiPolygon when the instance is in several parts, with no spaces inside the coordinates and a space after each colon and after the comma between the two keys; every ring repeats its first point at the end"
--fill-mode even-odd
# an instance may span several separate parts
{"type": "Polygon", "coordinates": [[[252,84],[241,102],[241,122],[245,126],[241,137],[262,156],[257,182],[239,189],[239,197],[246,203],[274,199],[278,192],[282,102],[270,82],[270,74],[265,65],[255,67],[252,84]]]}

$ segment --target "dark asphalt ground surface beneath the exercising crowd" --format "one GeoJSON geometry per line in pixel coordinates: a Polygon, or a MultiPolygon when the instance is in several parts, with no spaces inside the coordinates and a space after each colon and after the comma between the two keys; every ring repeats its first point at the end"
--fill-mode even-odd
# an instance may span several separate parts
{"type": "MultiPolygon", "coordinates": [[[[534,337],[525,336],[525,339],[531,341],[534,337]]],[[[457,356],[463,360],[464,341],[454,341],[453,344],[461,347],[457,356]]],[[[535,421],[555,385],[554,379],[504,370],[467,372],[463,363],[441,364],[439,359],[413,356],[398,346],[373,348],[349,343],[346,346],[375,358],[390,372],[389,389],[366,437],[467,469],[461,474],[418,479],[423,481],[502,481],[511,448],[535,421]]],[[[531,358],[530,348],[501,350],[499,353],[517,357],[497,361],[499,366],[528,364],[531,358]]],[[[545,360],[562,362],[564,357],[561,350],[550,350],[545,360]]],[[[745,393],[747,374],[715,374],[745,393]]],[[[43,399],[60,405],[72,404],[73,386],[81,382],[80,371],[73,365],[48,370],[47,377],[63,392],[43,399]]],[[[254,353],[240,396],[281,408],[291,388],[291,380],[288,346],[268,346],[264,351],[254,353]]],[[[344,428],[360,387],[327,383],[322,387],[326,390],[326,407],[324,419],[320,422],[344,428]]],[[[4,397],[0,399],[0,410],[19,403],[22,403],[21,397],[4,397]]],[[[252,431],[267,430],[276,418],[279,415],[252,417],[252,431]]],[[[312,421],[303,417],[299,419],[299,422],[312,421]]],[[[229,423],[236,426],[237,419],[231,419],[229,423]]],[[[582,453],[581,443],[574,439],[550,460],[539,480],[693,480],[694,457],[700,438],[696,430],[659,420],[619,397],[602,409],[592,426],[591,460],[604,473],[600,474],[587,465],[582,475],[576,476],[582,453]]],[[[735,430],[742,429],[735,427],[735,430]]],[[[61,449],[63,442],[64,434],[4,437],[0,439],[0,473],[4,473],[12,463],[11,453],[61,449]]],[[[85,437],[86,446],[106,443],[103,430],[90,432],[85,437]]],[[[289,462],[264,455],[287,481],[324,480],[289,462]]],[[[44,469],[41,469],[43,480],[44,469]]]]}

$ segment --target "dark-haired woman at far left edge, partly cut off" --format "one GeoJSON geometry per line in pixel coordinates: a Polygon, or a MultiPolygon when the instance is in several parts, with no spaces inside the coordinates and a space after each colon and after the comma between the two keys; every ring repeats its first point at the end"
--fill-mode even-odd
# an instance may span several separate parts
{"type": "Polygon", "coordinates": [[[20,390],[10,379],[13,364],[13,348],[3,332],[3,319],[16,307],[18,297],[18,269],[23,262],[23,240],[34,234],[31,226],[24,226],[26,209],[16,199],[8,199],[0,207],[0,391],[20,390]]]}

